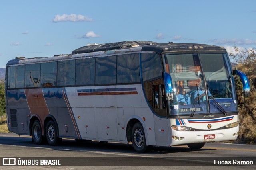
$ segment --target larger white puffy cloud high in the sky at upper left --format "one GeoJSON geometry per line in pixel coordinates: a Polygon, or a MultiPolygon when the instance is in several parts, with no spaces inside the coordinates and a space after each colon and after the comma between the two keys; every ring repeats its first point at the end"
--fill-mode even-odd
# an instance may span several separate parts
{"type": "Polygon", "coordinates": [[[62,16],[56,15],[54,19],[52,20],[53,22],[91,22],[92,19],[88,18],[87,16],[82,16],[82,15],[76,15],[76,14],[63,14],[62,16]]]}

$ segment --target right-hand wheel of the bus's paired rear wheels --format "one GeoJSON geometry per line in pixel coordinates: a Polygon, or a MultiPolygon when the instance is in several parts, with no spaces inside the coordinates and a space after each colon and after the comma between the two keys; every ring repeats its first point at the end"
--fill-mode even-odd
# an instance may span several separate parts
{"type": "Polygon", "coordinates": [[[46,125],[46,139],[51,146],[60,144],[62,138],[58,138],[56,125],[53,121],[48,121],[46,125]]]}

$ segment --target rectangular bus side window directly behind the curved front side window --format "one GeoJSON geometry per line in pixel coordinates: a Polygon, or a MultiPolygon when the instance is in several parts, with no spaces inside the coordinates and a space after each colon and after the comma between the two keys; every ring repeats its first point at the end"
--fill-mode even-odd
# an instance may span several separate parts
{"type": "Polygon", "coordinates": [[[117,56],[117,83],[140,82],[139,54],[117,56]]]}

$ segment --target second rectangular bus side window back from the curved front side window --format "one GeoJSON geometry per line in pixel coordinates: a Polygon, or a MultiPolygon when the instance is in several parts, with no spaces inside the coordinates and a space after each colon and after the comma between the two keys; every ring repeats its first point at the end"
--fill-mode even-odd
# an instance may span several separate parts
{"type": "Polygon", "coordinates": [[[116,84],[116,56],[96,58],[95,84],[116,84]]]}

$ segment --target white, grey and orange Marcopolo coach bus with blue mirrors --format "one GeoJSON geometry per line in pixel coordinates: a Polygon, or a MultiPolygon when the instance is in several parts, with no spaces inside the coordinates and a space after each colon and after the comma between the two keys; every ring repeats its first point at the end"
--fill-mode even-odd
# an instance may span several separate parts
{"type": "Polygon", "coordinates": [[[124,41],[53,57],[16,57],[6,65],[9,131],[38,145],[62,138],[151,146],[235,140],[238,106],[224,47],[124,41]]]}

